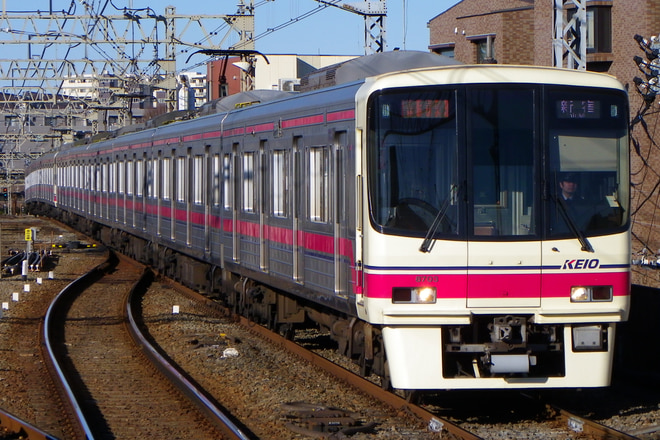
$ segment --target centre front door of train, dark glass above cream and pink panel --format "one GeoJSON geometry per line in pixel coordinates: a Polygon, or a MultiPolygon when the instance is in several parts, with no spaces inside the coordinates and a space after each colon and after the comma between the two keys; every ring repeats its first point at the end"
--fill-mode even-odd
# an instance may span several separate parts
{"type": "Polygon", "coordinates": [[[541,304],[534,96],[523,87],[467,94],[468,307],[541,304]]]}

